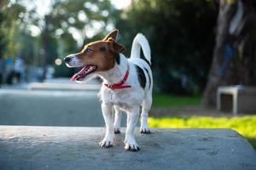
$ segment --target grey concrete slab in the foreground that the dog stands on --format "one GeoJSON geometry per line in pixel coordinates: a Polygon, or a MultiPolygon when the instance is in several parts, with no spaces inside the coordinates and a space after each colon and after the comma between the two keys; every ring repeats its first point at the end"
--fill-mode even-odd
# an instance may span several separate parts
{"type": "Polygon", "coordinates": [[[103,127],[0,126],[0,169],[256,169],[255,150],[230,129],[151,129],[139,152],[101,149],[103,127]]]}

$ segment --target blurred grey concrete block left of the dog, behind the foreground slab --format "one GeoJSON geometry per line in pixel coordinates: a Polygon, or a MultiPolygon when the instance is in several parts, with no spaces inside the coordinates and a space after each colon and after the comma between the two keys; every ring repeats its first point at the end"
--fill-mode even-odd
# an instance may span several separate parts
{"type": "Polygon", "coordinates": [[[0,125],[103,127],[97,93],[0,90],[0,125]]]}

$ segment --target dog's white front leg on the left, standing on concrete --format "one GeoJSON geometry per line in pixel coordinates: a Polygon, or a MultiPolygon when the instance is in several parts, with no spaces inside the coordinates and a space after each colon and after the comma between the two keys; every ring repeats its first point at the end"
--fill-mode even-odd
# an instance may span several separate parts
{"type": "Polygon", "coordinates": [[[102,103],[102,114],[106,124],[106,134],[100,146],[109,148],[113,146],[114,131],[113,131],[113,105],[102,103]]]}

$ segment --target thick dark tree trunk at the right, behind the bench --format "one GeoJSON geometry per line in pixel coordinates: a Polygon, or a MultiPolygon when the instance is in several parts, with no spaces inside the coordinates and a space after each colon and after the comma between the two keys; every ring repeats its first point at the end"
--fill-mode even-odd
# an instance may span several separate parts
{"type": "Polygon", "coordinates": [[[204,106],[216,105],[218,86],[256,85],[256,1],[219,3],[216,45],[204,106]]]}

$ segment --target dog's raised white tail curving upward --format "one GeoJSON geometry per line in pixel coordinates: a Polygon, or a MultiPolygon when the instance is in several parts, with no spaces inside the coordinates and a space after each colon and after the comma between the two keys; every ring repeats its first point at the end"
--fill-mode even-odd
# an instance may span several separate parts
{"type": "Polygon", "coordinates": [[[148,44],[148,40],[146,37],[143,36],[143,34],[138,33],[132,42],[131,58],[141,58],[140,56],[141,48],[143,48],[143,54],[145,56],[144,58],[147,59],[146,62],[148,61],[149,65],[151,65],[151,54],[150,54],[150,47],[148,44]]]}

